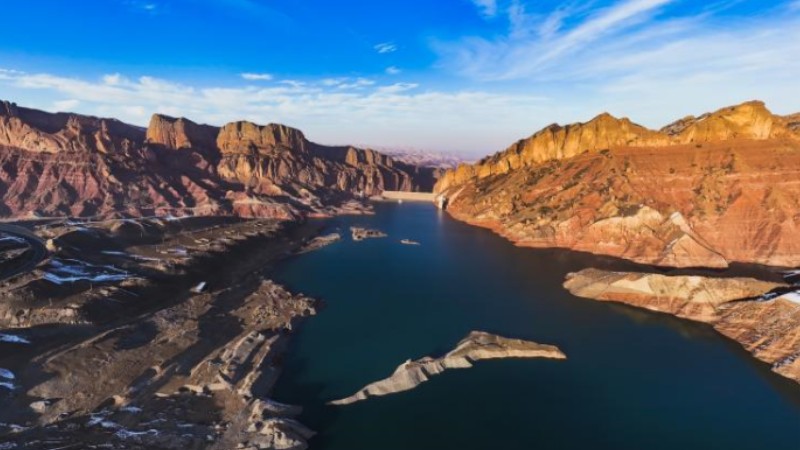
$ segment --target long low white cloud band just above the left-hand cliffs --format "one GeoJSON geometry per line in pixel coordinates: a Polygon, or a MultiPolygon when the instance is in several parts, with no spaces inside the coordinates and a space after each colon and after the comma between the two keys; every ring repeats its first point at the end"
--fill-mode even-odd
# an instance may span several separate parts
{"type": "Polygon", "coordinates": [[[474,155],[504,146],[511,136],[527,134],[528,124],[515,122],[514,117],[545,111],[544,100],[532,95],[445,92],[412,82],[383,84],[351,77],[221,87],[150,76],[109,74],[86,79],[0,69],[0,90],[23,105],[78,109],[140,125],[155,112],[213,124],[242,119],[283,122],[324,143],[411,145],[474,155]],[[43,97],[48,100],[42,102],[43,97]],[[457,133],[459,139],[443,130],[457,133]]]}

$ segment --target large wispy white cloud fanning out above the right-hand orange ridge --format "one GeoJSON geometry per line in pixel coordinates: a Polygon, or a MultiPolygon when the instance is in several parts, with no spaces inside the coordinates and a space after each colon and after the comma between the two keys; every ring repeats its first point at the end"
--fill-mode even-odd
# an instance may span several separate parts
{"type": "Polygon", "coordinates": [[[517,0],[504,0],[505,32],[434,48],[445,70],[470,83],[557,99],[537,126],[610,111],[659,127],[751,99],[790,113],[800,110],[797,1],[564,1],[531,12],[531,1],[513,10],[517,0]]]}

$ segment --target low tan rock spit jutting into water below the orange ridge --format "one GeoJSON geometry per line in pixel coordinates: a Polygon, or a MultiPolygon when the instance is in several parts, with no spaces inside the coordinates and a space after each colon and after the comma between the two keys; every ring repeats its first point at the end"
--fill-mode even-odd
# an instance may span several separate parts
{"type": "Polygon", "coordinates": [[[711,324],[773,371],[800,382],[800,296],[787,285],[586,269],[569,274],[564,287],[579,297],[711,324]]]}

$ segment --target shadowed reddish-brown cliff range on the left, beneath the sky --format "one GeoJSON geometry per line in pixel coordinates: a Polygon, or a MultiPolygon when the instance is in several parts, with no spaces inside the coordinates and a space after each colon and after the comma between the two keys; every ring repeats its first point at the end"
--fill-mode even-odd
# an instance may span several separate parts
{"type": "Polygon", "coordinates": [[[434,176],[284,125],[218,128],[156,114],[145,129],[0,102],[0,216],[291,219],[383,190],[430,191],[434,176]]]}

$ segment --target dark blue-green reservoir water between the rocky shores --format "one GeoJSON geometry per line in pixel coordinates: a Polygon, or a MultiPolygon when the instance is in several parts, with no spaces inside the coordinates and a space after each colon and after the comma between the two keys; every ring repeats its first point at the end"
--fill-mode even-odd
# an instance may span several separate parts
{"type": "Polygon", "coordinates": [[[561,287],[608,260],[516,248],[422,204],[381,204],[330,227],[351,224],[390,237],[346,239],[275,276],[326,302],[296,334],[276,389],[305,407],[312,448],[800,448],[800,385],[706,325],[561,287]],[[471,330],[555,344],[569,359],[484,361],[410,392],[324,405],[471,330]]]}

